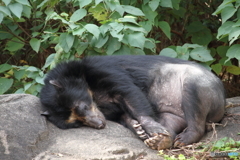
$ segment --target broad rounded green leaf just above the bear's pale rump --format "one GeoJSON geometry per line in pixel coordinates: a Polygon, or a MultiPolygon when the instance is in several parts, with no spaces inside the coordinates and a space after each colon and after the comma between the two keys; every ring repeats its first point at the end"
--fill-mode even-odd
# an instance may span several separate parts
{"type": "Polygon", "coordinates": [[[210,50],[205,47],[194,48],[190,52],[190,56],[192,57],[192,59],[198,60],[200,62],[208,62],[213,60],[210,54],[210,50]]]}

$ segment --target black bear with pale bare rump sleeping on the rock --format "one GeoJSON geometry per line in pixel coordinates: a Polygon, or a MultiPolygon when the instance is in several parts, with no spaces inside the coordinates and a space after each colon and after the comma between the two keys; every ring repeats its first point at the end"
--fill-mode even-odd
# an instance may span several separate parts
{"type": "Polygon", "coordinates": [[[105,118],[135,132],[152,149],[197,142],[206,122],[224,114],[222,82],[194,62],[162,56],[95,56],[51,70],[40,99],[62,129],[104,128],[105,118]]]}

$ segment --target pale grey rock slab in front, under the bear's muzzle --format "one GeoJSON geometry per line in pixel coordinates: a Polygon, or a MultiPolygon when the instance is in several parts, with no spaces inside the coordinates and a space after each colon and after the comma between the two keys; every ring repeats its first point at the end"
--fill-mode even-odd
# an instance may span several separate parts
{"type": "Polygon", "coordinates": [[[147,148],[131,131],[114,122],[108,121],[106,128],[101,130],[89,127],[60,130],[50,123],[48,126],[49,141],[53,143],[45,141],[48,152],[40,153],[36,160],[43,155],[81,160],[160,159],[157,151],[147,148]]]}

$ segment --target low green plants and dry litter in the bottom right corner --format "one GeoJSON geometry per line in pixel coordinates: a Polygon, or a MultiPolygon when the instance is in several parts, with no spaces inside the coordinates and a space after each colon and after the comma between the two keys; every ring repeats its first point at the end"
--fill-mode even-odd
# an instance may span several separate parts
{"type": "Polygon", "coordinates": [[[215,142],[199,142],[180,149],[171,151],[159,151],[159,156],[168,160],[203,160],[211,158],[229,157],[237,160],[240,157],[240,141],[234,141],[232,138],[224,137],[215,142]],[[216,155],[218,154],[218,155],[216,155]],[[222,156],[221,156],[222,155],[222,156]]]}

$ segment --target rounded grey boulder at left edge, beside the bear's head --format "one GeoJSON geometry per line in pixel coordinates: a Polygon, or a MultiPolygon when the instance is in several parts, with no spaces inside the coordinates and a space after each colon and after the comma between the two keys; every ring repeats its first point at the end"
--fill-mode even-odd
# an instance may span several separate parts
{"type": "Polygon", "coordinates": [[[0,159],[28,160],[36,144],[47,137],[46,121],[39,116],[39,99],[31,95],[0,96],[0,159]]]}

